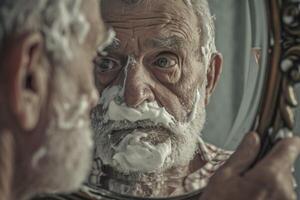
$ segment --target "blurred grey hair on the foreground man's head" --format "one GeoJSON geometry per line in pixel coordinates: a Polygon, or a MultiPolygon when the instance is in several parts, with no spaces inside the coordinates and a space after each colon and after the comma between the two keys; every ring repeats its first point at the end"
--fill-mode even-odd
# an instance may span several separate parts
{"type": "Polygon", "coordinates": [[[89,28],[81,0],[0,0],[0,49],[8,37],[39,31],[50,61],[63,62],[72,57],[70,38],[84,42],[89,28]]]}

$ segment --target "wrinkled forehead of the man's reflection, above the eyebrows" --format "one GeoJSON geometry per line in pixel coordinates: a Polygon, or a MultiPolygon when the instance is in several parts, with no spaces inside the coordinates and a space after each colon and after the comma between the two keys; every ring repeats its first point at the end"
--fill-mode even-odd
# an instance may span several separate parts
{"type": "Polygon", "coordinates": [[[169,31],[187,40],[197,34],[197,17],[183,0],[103,0],[102,14],[117,32],[169,31]]]}

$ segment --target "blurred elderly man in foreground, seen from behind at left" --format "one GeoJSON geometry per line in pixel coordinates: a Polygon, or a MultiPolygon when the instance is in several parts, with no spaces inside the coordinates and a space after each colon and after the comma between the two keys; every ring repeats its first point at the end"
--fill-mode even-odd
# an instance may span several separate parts
{"type": "MultiPolygon", "coordinates": [[[[0,1],[0,199],[73,191],[90,169],[97,0],[0,1]]],[[[100,47],[101,48],[101,47],[100,47]]]]}

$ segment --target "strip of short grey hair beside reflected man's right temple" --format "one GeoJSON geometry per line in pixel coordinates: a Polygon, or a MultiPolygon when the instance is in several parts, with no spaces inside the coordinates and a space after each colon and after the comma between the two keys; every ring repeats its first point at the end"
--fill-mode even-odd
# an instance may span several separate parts
{"type": "Polygon", "coordinates": [[[215,44],[214,16],[210,12],[207,0],[184,0],[185,4],[193,9],[198,17],[200,37],[200,54],[208,66],[213,53],[217,51],[215,44]]]}

